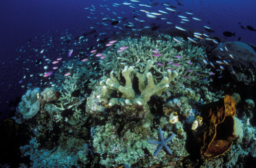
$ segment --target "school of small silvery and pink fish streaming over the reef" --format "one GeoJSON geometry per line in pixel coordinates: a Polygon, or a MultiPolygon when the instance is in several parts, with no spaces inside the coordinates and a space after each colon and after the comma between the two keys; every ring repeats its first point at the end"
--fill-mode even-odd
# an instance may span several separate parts
{"type": "MultiPolygon", "coordinates": [[[[66,70],[59,70],[58,67],[73,58],[79,58],[85,66],[89,57],[104,59],[106,56],[102,54],[102,51],[105,47],[115,45],[115,42],[117,42],[115,37],[118,34],[139,36],[142,30],[155,31],[166,27],[174,28],[174,30],[182,33],[188,31],[189,27],[186,26],[186,23],[193,22],[197,24],[201,22],[200,24],[204,25],[203,18],[196,16],[193,11],[183,11],[180,4],[180,7],[177,7],[169,1],[159,4],[151,1],[143,1],[142,3],[142,1],[137,0],[126,0],[113,3],[111,6],[103,5],[103,3],[104,1],[102,1],[102,5],[92,5],[84,8],[87,12],[86,17],[90,20],[90,25],[88,22],[84,23],[84,29],[67,29],[61,33],[57,30],[56,32],[48,31],[44,35],[29,39],[26,45],[16,50],[15,60],[12,60],[12,64],[16,67],[14,71],[17,71],[17,75],[14,78],[17,83],[22,87],[25,87],[24,83],[32,82],[35,85],[49,86],[50,84],[55,86],[55,83],[50,82],[50,79],[57,71],[63,77],[68,77],[72,76],[69,70],[75,68],[69,66],[66,70]],[[24,66],[21,64],[24,64],[24,66]],[[28,64],[29,66],[27,66],[28,64]]],[[[251,26],[247,26],[247,29],[254,30],[251,26]]],[[[201,30],[193,32],[193,36],[187,37],[187,40],[192,43],[198,43],[199,40],[209,40],[212,43],[220,44],[219,39],[212,37],[214,32],[205,24],[201,30]]],[[[235,33],[226,31],[223,35],[231,37],[235,36],[235,33]]],[[[173,40],[183,43],[175,37],[173,37],[173,40]]],[[[122,46],[117,52],[125,50],[129,50],[129,47],[122,46]]],[[[228,52],[227,47],[222,51],[228,52]]],[[[222,71],[225,68],[224,65],[230,65],[231,59],[236,59],[233,55],[233,53],[230,53],[230,59],[228,60],[222,60],[220,56],[220,60],[216,61],[219,66],[208,61],[203,55],[202,59],[205,64],[209,64],[216,71],[222,71]]],[[[153,51],[153,56],[160,57],[161,53],[153,51]]],[[[177,56],[177,58],[179,57],[177,56]]],[[[168,64],[171,63],[173,62],[168,62],[168,64]]],[[[191,64],[191,62],[188,63],[191,64]]],[[[162,63],[157,64],[159,66],[163,65],[162,63]]],[[[181,66],[178,63],[173,63],[173,65],[181,66]]],[[[234,70],[232,72],[236,75],[234,70]]],[[[210,75],[215,75],[215,73],[210,73],[210,75]]],[[[189,77],[186,78],[189,79],[189,77]]]]}

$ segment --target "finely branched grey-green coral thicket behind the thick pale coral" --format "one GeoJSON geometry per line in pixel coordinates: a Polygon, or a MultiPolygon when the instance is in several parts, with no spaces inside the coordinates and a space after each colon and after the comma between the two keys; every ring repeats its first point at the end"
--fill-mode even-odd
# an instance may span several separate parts
{"type": "Polygon", "coordinates": [[[101,68],[108,72],[112,69],[122,69],[124,66],[134,66],[142,73],[146,67],[146,61],[150,59],[155,62],[153,65],[155,70],[152,74],[158,79],[163,78],[165,71],[170,69],[180,74],[177,80],[185,86],[206,84],[209,69],[205,68],[206,64],[202,58],[203,49],[193,46],[190,41],[185,41],[181,37],[176,38],[182,43],[163,34],[160,34],[157,39],[146,36],[128,37],[116,42],[114,47],[103,52],[106,58],[100,60],[101,68]],[[122,46],[129,48],[118,52],[122,46]]]}

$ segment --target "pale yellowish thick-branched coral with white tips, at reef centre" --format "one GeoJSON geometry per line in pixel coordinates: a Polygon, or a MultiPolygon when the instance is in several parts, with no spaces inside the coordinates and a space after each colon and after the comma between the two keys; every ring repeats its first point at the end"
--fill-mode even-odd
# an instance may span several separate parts
{"type": "Polygon", "coordinates": [[[149,72],[153,64],[152,60],[148,60],[142,74],[134,69],[133,66],[125,66],[122,71],[116,74],[116,77],[114,76],[114,71],[112,71],[110,78],[100,82],[102,93],[98,98],[109,98],[109,106],[142,105],[144,109],[148,109],[147,102],[152,95],[160,96],[169,87],[169,83],[178,76],[176,71],[168,69],[166,77],[163,77],[159,83],[155,84],[153,75],[149,72]],[[125,82],[122,81],[122,77],[125,82]],[[137,84],[135,84],[136,78],[138,80],[137,84]],[[112,97],[113,90],[117,92],[116,98],[112,97]],[[120,97],[118,96],[119,93],[121,94],[120,97]]]}

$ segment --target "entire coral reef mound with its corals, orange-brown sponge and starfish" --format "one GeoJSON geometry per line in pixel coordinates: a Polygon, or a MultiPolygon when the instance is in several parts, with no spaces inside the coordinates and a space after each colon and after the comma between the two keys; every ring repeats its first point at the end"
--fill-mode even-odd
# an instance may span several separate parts
{"type": "Polygon", "coordinates": [[[30,160],[16,167],[246,167],[256,158],[253,97],[213,89],[198,43],[157,33],[119,39],[97,49],[104,59],[80,51],[63,61],[55,86],[27,91],[13,120],[32,117],[32,100],[39,112],[1,129],[7,142],[26,127],[17,155],[30,160]]]}

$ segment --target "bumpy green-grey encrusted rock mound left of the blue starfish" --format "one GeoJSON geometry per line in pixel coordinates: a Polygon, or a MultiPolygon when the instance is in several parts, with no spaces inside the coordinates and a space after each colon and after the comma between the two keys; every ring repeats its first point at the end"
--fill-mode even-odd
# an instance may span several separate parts
{"type": "Polygon", "coordinates": [[[106,167],[119,164],[131,166],[143,159],[145,151],[150,150],[150,144],[146,140],[148,133],[140,134],[143,129],[135,122],[126,125],[125,128],[113,125],[111,122],[95,128],[93,147],[100,154],[100,164],[106,167]],[[118,134],[118,129],[121,130],[120,134],[118,134]]]}

